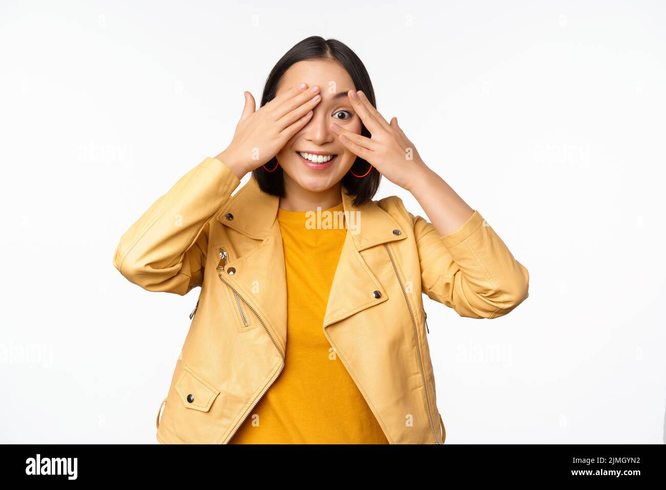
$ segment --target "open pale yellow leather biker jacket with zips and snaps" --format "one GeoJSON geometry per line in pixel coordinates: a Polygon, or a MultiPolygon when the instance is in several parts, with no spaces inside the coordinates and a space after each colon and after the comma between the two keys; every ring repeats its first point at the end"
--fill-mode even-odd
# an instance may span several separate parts
{"type": "MultiPolygon", "coordinates": [[[[284,367],[279,198],[253,178],[232,196],[238,185],[229,167],[204,159],[129,228],[113,257],[147,291],[201,287],[157,413],[160,443],[228,443],[284,367]]],[[[442,237],[396,196],[354,207],[342,192],[342,202],[360,221],[348,228],[323,333],[390,443],[444,443],[422,293],[463,317],[497,318],[527,298],[527,269],[476,209],[442,237]]]]}

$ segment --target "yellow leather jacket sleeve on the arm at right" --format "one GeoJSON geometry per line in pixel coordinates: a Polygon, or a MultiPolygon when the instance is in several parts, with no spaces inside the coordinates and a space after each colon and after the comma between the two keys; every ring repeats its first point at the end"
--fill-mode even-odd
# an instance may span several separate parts
{"type": "MultiPolygon", "coordinates": [[[[404,206],[403,206],[404,207],[404,206]]],[[[421,265],[423,292],[461,317],[498,318],[529,295],[529,273],[474,209],[456,231],[441,236],[432,223],[408,213],[421,265]]]]}

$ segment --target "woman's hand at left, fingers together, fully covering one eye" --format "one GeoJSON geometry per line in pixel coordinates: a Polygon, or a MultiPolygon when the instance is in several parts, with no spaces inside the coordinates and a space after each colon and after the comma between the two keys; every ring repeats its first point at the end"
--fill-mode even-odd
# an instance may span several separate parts
{"type": "Polygon", "coordinates": [[[270,161],[304,125],[322,99],[319,86],[301,83],[278,95],[255,111],[254,97],[244,92],[245,107],[229,146],[217,159],[238,179],[270,161]]]}

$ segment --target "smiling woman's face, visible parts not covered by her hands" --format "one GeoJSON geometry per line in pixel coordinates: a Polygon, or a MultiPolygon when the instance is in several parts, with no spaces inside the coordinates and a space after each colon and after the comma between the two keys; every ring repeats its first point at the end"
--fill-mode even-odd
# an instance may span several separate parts
{"type": "Polygon", "coordinates": [[[345,149],[338,135],[330,129],[331,123],[336,123],[352,133],[361,133],[361,120],[347,97],[347,92],[356,90],[356,87],[339,63],[308,60],[294,63],[284,73],[278,95],[300,82],[307,83],[308,87],[319,85],[322,100],[314,107],[310,121],[284,145],[276,157],[284,171],[286,189],[295,183],[308,191],[325,191],[340,182],[356,160],[356,155],[345,149]],[[342,95],[338,95],[340,93],[342,95]],[[326,161],[326,157],[312,155],[317,152],[336,156],[326,161]],[[309,157],[306,153],[310,153],[309,157]]]}

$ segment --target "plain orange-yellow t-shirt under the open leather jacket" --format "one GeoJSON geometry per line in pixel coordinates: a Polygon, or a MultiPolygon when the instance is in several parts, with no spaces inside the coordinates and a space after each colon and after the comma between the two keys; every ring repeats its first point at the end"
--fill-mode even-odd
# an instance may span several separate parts
{"type": "Polygon", "coordinates": [[[278,208],[288,297],[285,364],[229,443],[388,444],[322,329],[346,230],[308,227],[316,225],[308,216],[278,208]]]}

